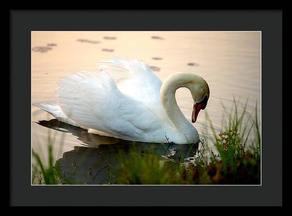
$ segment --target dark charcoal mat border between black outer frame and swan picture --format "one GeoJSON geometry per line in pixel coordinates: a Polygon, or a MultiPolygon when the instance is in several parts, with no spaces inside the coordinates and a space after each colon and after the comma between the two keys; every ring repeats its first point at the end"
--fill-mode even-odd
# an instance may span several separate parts
{"type": "Polygon", "coordinates": [[[282,13],[281,10],[11,10],[10,205],[281,206],[282,13]],[[262,185],[31,186],[31,31],[261,31],[262,185]],[[274,100],[277,112],[271,117],[274,100]]]}

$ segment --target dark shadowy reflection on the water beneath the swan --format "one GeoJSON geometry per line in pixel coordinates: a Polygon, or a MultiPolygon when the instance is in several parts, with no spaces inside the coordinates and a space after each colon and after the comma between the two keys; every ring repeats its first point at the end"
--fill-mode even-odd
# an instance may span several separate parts
{"type": "MultiPolygon", "coordinates": [[[[62,158],[55,163],[64,178],[69,179],[72,184],[110,183],[107,175],[109,168],[119,165],[120,154],[127,157],[132,150],[137,154],[145,154],[154,150],[161,155],[162,160],[180,161],[182,157],[184,159],[195,157],[199,147],[199,143],[158,144],[100,136],[57,119],[41,120],[36,123],[63,133],[72,133],[82,142],[83,146],[75,146],[73,150],[64,152],[62,158]]],[[[166,139],[165,141],[167,142],[166,139]]]]}

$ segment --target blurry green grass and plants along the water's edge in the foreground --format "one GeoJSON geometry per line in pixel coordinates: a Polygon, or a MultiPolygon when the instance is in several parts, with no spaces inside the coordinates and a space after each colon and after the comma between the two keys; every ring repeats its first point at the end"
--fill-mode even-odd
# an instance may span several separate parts
{"type": "MultiPolygon", "coordinates": [[[[116,153],[118,165],[110,166],[108,179],[113,184],[260,184],[261,134],[255,111],[247,112],[247,101],[240,107],[234,100],[234,108],[228,111],[224,106],[221,132],[216,132],[212,120],[205,112],[206,122],[203,134],[211,129],[212,137],[203,136],[195,159],[190,163],[183,156],[169,160],[154,148],[143,150],[134,145],[127,154],[116,153]],[[214,152],[214,147],[215,151],[214,152]],[[213,149],[213,150],[212,150],[213,149]],[[206,154],[209,152],[209,154],[206,154]]],[[[167,139],[167,137],[166,137],[167,139]]],[[[168,139],[167,139],[168,141],[168,139]]],[[[171,140],[170,140],[171,141],[171,140]]],[[[176,145],[173,142],[169,145],[176,145]]],[[[179,145],[177,145],[179,146],[179,145]]],[[[34,183],[70,184],[60,170],[54,166],[53,142],[48,138],[48,165],[33,150],[36,163],[34,183]]],[[[177,154],[181,155],[180,148],[177,154]]]]}

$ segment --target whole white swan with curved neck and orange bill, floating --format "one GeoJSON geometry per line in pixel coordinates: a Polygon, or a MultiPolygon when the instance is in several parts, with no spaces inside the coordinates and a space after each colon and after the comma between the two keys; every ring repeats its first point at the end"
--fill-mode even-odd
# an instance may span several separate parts
{"type": "Polygon", "coordinates": [[[209,99],[209,86],[192,73],[178,72],[164,83],[140,61],[114,58],[100,62],[99,72],[82,71],[63,77],[55,89],[58,104],[37,103],[56,119],[89,133],[142,142],[178,144],[200,141],[175,99],[178,88],[190,90],[192,122],[209,99]],[[111,73],[120,74],[114,81],[111,73]]]}

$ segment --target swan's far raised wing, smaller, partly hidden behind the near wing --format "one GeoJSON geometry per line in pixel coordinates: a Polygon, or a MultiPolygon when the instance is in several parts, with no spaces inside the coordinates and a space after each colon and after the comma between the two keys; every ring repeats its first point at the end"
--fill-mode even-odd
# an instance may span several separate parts
{"type": "Polygon", "coordinates": [[[102,64],[99,66],[101,70],[113,74],[118,89],[124,94],[155,106],[161,103],[162,81],[147,63],[138,59],[116,57],[99,64],[102,64]]]}

